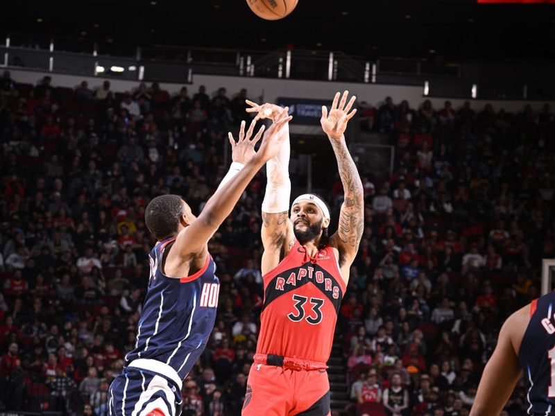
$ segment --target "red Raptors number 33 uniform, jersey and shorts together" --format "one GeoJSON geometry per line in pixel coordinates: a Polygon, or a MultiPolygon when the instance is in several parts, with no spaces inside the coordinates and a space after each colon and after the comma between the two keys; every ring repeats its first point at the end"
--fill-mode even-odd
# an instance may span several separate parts
{"type": "Polygon", "coordinates": [[[243,415],[327,415],[327,365],[345,293],[334,250],[296,241],[264,275],[264,306],[243,415]],[[279,393],[278,393],[279,392],[279,393]]]}

